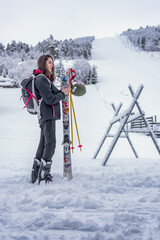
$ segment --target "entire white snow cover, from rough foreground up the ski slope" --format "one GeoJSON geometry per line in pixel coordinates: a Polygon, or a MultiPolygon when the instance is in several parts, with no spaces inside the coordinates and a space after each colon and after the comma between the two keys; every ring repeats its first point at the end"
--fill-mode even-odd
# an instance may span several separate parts
{"type": "Polygon", "coordinates": [[[160,55],[151,57],[126,48],[118,38],[106,38],[95,40],[92,62],[99,83],[74,97],[83,151],[76,148],[72,155],[72,181],[62,177],[62,123],[57,121],[54,181],[30,184],[37,118],[22,109],[20,89],[0,89],[0,239],[160,239],[160,158],[151,139],[131,135],[139,159],[125,139],[105,167],[108,140],[92,159],[113,116],[110,103],[123,102],[125,109],[132,100],[129,83],[134,90],[144,84],[139,103],[148,116],[159,116],[160,55]]]}

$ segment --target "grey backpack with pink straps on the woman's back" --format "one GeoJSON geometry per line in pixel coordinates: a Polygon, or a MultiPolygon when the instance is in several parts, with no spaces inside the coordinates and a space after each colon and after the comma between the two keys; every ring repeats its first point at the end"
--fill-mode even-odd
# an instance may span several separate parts
{"type": "Polygon", "coordinates": [[[37,114],[37,108],[39,106],[39,101],[35,94],[35,79],[36,77],[32,75],[21,82],[22,98],[25,104],[24,108],[26,108],[30,114],[34,115],[37,114]]]}

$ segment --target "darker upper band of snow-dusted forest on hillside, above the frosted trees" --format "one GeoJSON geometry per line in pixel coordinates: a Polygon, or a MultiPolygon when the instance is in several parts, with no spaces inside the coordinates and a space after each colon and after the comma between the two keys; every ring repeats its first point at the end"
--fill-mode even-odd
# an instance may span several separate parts
{"type": "Polygon", "coordinates": [[[94,36],[58,41],[53,35],[39,42],[35,47],[13,40],[5,47],[0,43],[0,56],[19,56],[22,61],[34,59],[39,54],[50,54],[54,59],[90,59],[94,36]]]}

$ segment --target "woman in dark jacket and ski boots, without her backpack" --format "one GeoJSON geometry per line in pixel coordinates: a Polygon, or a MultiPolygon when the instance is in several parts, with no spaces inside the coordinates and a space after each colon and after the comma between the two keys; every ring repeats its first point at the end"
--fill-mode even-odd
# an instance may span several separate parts
{"type": "Polygon", "coordinates": [[[41,128],[40,142],[34,158],[31,182],[52,181],[50,174],[52,157],[56,147],[55,122],[60,119],[60,101],[69,94],[69,88],[58,90],[55,80],[53,58],[42,55],[38,59],[38,69],[34,70],[35,93],[39,100],[38,118],[41,128]]]}

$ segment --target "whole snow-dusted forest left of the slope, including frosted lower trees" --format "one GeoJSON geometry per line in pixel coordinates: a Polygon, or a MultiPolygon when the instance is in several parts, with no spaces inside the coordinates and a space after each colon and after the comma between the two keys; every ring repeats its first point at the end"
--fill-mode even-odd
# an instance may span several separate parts
{"type": "Polygon", "coordinates": [[[95,84],[98,80],[96,66],[91,66],[93,36],[57,41],[52,35],[35,47],[12,41],[5,47],[0,43],[0,76],[13,80],[19,86],[21,80],[30,76],[42,54],[50,54],[55,59],[55,70],[64,68],[63,63],[73,60],[77,79],[85,84],[95,84]]]}

